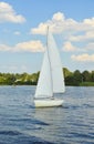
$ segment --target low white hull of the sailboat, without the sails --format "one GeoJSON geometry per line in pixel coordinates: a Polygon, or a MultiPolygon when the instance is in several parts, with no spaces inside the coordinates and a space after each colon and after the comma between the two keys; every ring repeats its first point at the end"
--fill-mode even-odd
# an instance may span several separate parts
{"type": "Polygon", "coordinates": [[[34,100],[35,107],[53,107],[53,106],[62,106],[63,100],[59,99],[48,99],[48,100],[34,100]]]}

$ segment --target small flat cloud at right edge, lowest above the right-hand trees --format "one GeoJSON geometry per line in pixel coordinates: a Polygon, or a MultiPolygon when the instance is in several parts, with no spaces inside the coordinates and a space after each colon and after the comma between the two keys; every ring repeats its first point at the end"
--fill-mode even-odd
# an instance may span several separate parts
{"type": "Polygon", "coordinates": [[[80,62],[94,62],[94,54],[81,54],[81,55],[72,55],[72,60],[80,61],[80,62]]]}

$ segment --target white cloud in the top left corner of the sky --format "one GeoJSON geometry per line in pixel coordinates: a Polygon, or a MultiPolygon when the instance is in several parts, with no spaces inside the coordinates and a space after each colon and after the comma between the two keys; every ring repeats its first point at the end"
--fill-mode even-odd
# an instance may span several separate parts
{"type": "Polygon", "coordinates": [[[24,21],[24,17],[17,14],[12,6],[7,2],[0,2],[0,22],[22,23],[24,21]]]}

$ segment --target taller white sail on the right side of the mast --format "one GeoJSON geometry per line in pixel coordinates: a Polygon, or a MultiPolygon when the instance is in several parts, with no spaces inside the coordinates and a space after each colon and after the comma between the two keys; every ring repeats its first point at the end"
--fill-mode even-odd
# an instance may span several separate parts
{"type": "Polygon", "coordinates": [[[63,93],[65,91],[65,86],[64,86],[64,76],[62,72],[62,63],[52,33],[48,34],[48,50],[51,62],[53,92],[63,93]]]}

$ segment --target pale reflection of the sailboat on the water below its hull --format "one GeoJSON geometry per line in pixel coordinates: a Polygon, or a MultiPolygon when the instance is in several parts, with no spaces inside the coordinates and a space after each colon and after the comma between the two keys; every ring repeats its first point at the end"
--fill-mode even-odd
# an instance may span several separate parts
{"type": "Polygon", "coordinates": [[[34,117],[45,123],[41,125],[41,132],[36,132],[40,137],[50,140],[50,142],[58,143],[62,141],[62,128],[64,115],[62,107],[35,109],[34,117]]]}

